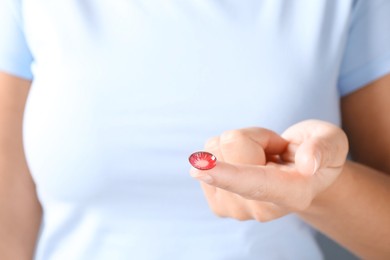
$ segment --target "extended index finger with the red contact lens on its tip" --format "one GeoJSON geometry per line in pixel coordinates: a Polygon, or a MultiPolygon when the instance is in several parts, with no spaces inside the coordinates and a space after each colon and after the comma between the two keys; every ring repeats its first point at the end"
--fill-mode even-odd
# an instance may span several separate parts
{"type": "Polygon", "coordinates": [[[275,166],[233,165],[218,161],[211,170],[192,168],[190,173],[209,185],[247,199],[281,204],[305,202],[305,193],[308,192],[306,178],[287,166],[281,167],[284,167],[283,171],[275,166]]]}

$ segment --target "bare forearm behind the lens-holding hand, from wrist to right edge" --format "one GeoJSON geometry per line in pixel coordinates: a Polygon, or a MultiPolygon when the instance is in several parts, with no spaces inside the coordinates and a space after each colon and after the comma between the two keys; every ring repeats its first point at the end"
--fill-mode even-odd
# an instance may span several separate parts
{"type": "Polygon", "coordinates": [[[347,162],[301,217],[364,259],[390,257],[390,176],[347,162]]]}

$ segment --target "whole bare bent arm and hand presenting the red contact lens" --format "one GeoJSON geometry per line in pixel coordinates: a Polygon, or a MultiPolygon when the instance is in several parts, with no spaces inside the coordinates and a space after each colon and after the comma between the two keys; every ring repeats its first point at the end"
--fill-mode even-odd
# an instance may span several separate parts
{"type": "Polygon", "coordinates": [[[390,75],[342,99],[343,129],[304,121],[279,136],[228,131],[205,150],[201,180],[221,217],[269,221],[296,213],[363,259],[390,257],[390,75]],[[347,135],[346,135],[346,134],[347,135]],[[348,140],[355,162],[346,160],[348,140]]]}

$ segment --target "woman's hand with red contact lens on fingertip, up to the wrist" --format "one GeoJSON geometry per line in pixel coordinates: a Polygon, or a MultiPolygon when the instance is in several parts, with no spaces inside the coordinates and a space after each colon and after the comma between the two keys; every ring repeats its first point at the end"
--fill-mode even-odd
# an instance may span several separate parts
{"type": "Polygon", "coordinates": [[[216,167],[190,173],[202,181],[214,213],[264,222],[308,208],[341,173],[348,141],[340,128],[308,120],[282,136],[262,128],[228,131],[205,150],[217,157],[216,167]]]}

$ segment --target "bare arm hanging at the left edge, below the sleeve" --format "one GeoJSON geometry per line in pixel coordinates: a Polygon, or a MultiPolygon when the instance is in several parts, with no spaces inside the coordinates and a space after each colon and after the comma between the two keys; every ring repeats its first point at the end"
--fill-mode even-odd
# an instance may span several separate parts
{"type": "Polygon", "coordinates": [[[41,222],[41,206],[22,144],[30,85],[30,81],[0,73],[0,259],[32,259],[41,222]]]}

